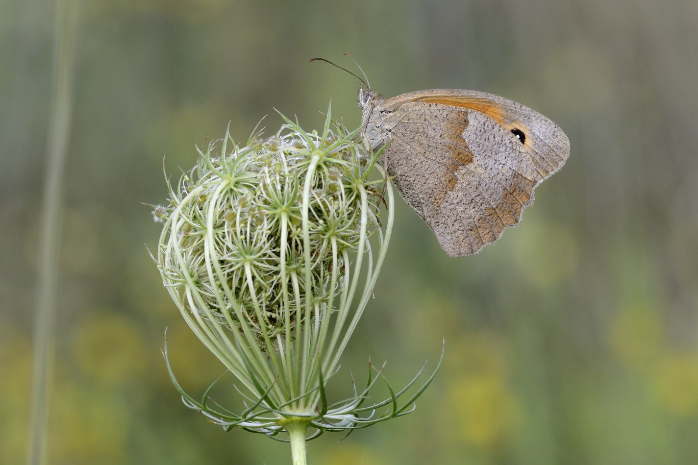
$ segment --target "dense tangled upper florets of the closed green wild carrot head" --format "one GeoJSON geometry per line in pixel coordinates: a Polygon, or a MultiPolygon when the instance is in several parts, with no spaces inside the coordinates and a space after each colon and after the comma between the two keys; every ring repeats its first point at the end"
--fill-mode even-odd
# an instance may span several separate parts
{"type": "Polygon", "coordinates": [[[209,145],[172,192],[168,212],[156,209],[170,218],[163,273],[196,284],[201,302],[192,309],[201,318],[264,344],[295,334],[306,304],[321,310],[312,318],[334,310],[344,253],[375,232],[380,199],[365,179],[369,160],[341,136],[287,125],[225,153],[226,134],[221,156],[211,157],[209,145]]]}

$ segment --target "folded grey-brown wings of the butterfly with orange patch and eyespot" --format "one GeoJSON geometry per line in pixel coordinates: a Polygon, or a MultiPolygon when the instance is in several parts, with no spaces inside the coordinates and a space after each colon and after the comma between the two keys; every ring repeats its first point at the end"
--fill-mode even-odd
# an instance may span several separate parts
{"type": "Polygon", "coordinates": [[[382,163],[449,256],[472,255],[521,221],[533,189],[560,169],[570,142],[552,121],[506,98],[435,89],[380,110],[382,163]]]}

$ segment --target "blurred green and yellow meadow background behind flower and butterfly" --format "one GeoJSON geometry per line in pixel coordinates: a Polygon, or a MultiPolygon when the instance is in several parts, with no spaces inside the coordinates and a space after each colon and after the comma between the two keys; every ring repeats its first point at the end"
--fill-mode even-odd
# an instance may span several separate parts
{"type": "MultiPolygon", "coordinates": [[[[149,207],[194,144],[273,108],[359,124],[386,96],[479,89],[571,142],[521,226],[449,259],[400,200],[339,380],[445,363],[407,417],[309,443],[311,464],[698,463],[698,2],[80,1],[50,411],[52,464],[281,464],[288,445],[185,408],[222,371],[169,300],[149,207]]],[[[24,462],[56,10],[0,0],[0,463],[24,462]]],[[[229,385],[232,379],[225,378],[229,385]]],[[[339,385],[339,383],[337,383],[339,385]]]]}

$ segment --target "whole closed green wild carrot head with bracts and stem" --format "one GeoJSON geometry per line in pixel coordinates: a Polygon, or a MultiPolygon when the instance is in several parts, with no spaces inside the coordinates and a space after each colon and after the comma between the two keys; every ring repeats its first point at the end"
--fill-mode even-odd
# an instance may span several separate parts
{"type": "MultiPolygon", "coordinates": [[[[170,203],[154,211],[164,222],[154,260],[165,288],[242,384],[245,408],[235,414],[209,406],[216,382],[200,401],[188,396],[168,361],[175,388],[187,406],[225,429],[269,437],[285,431],[294,464],[305,463],[306,440],[323,431],[350,432],[410,413],[433,379],[399,405],[417,377],[395,393],[369,364],[364,390],[352,383],[350,399],[327,401],[327,379],[372,295],[394,219],[380,152],[366,152],[355,142],[360,128],[346,131],[330,115],[321,133],[281,115],[276,135],[255,133],[244,147],[227,131],[199,150],[198,164],[176,186],[168,182],[170,203]],[[378,180],[369,179],[373,168],[378,180]],[[362,406],[378,379],[389,399],[362,406]]],[[[168,360],[167,344],[164,353],[168,360]]]]}

